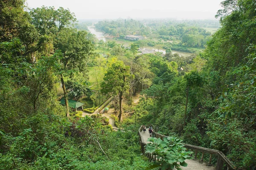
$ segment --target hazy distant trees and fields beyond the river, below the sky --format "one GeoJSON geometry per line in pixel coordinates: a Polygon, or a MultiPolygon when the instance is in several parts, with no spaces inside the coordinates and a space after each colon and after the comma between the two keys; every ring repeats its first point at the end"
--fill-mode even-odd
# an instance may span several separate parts
{"type": "Polygon", "coordinates": [[[140,35],[146,37],[145,46],[162,46],[163,49],[173,49],[182,52],[196,52],[204,49],[211,37],[211,32],[199,26],[212,26],[218,28],[215,21],[189,21],[176,20],[115,20],[99,21],[96,29],[113,35],[116,40],[126,42],[126,35],[140,35]]]}

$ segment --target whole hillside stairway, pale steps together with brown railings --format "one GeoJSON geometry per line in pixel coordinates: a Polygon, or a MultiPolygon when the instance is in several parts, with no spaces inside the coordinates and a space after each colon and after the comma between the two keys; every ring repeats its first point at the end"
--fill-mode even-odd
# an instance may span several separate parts
{"type": "MultiPolygon", "coordinates": [[[[140,135],[140,146],[141,146],[141,152],[145,153],[145,145],[148,143],[149,133],[148,129],[146,132],[143,132],[143,127],[141,126],[139,129],[139,135],[140,135]]],[[[165,135],[161,135],[156,132],[152,132],[152,137],[155,138],[161,138],[163,140],[164,137],[168,137],[165,135]]],[[[193,160],[186,160],[186,163],[188,164],[187,167],[181,167],[183,170],[222,170],[222,167],[224,164],[227,166],[227,170],[236,170],[236,167],[234,164],[219,150],[212,150],[209,148],[204,147],[198,147],[190,144],[183,144],[184,147],[186,147],[187,150],[192,150],[195,153],[195,158],[193,160]],[[198,160],[198,153],[201,153],[201,158],[198,160]],[[204,162],[204,156],[208,154],[209,161],[206,163],[204,162]],[[217,158],[217,163],[214,166],[212,166],[212,157],[215,156],[217,158]]],[[[155,155],[148,154],[147,155],[150,160],[156,160],[155,155]]]]}

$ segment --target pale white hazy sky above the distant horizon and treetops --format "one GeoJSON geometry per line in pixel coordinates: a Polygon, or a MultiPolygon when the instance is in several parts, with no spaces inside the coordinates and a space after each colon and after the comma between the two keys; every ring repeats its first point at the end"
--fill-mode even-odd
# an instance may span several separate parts
{"type": "Polygon", "coordinates": [[[54,6],[81,19],[175,18],[215,19],[224,0],[27,0],[30,8],[54,6]]]}

